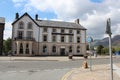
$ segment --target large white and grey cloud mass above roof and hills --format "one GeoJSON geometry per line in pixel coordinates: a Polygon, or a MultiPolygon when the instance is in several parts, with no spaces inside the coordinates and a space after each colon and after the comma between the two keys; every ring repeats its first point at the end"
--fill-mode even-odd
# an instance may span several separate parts
{"type": "MultiPolygon", "coordinates": [[[[22,4],[20,0],[13,0],[22,4]]],[[[24,2],[24,0],[22,0],[24,2]]],[[[120,34],[120,0],[27,0],[25,11],[54,12],[56,19],[71,21],[77,18],[87,28],[87,35],[103,38],[106,20],[111,18],[113,35],[120,34]]],[[[56,20],[55,19],[55,20],[56,20]]]]}

